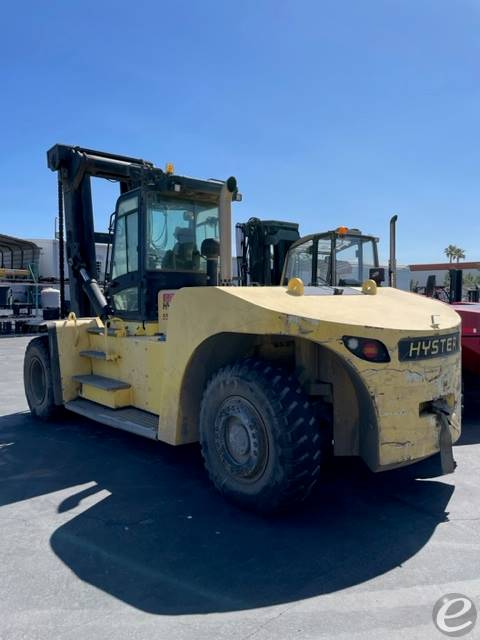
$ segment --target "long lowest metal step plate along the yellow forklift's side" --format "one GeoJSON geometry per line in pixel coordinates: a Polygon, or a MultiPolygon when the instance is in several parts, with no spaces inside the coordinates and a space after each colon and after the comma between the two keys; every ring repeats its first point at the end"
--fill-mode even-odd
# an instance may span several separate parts
{"type": "Polygon", "coordinates": [[[95,420],[109,427],[135,433],[150,440],[158,437],[158,416],[148,411],[126,407],[124,409],[109,409],[101,404],[78,398],[65,404],[65,408],[78,413],[85,418],[95,420]]]}

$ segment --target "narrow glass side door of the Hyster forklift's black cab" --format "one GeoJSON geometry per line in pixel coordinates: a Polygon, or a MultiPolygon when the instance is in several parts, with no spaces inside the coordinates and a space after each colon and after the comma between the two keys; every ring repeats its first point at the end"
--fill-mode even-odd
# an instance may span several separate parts
{"type": "Polygon", "coordinates": [[[115,315],[140,316],[140,192],[131,191],[117,201],[112,248],[110,303],[115,315]]]}

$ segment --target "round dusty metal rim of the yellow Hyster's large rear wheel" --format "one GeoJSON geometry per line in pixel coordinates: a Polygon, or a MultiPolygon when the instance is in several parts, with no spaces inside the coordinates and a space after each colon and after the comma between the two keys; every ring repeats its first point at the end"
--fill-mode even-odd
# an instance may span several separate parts
{"type": "Polygon", "coordinates": [[[259,412],[245,398],[231,396],[220,405],[215,445],[228,473],[237,480],[253,482],[265,471],[267,431],[259,412]]]}

